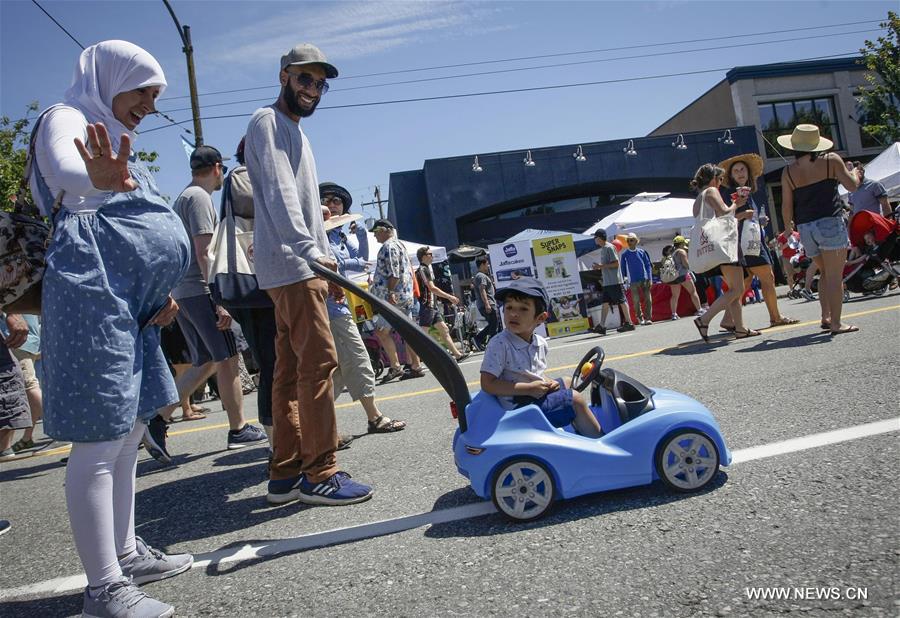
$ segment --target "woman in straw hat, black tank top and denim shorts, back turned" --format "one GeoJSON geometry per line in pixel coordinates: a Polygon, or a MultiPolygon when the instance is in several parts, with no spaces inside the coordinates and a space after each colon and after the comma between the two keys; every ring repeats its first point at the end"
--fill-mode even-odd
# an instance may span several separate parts
{"type": "Polygon", "coordinates": [[[792,150],[796,158],[781,172],[781,215],[785,234],[790,235],[796,227],[806,255],[819,267],[822,328],[832,335],[857,331],[855,326],[841,323],[848,239],[837,186],[840,183],[847,191],[855,191],[858,171],[848,171],[836,153],[819,155],[834,143],[819,135],[814,124],[798,124],[792,133],[780,135],[778,144],[792,150]]]}

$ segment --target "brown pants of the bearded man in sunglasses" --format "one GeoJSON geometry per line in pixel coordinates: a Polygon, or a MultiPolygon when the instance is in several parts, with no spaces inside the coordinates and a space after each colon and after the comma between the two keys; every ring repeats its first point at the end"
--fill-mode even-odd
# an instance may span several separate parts
{"type": "Polygon", "coordinates": [[[270,478],[301,472],[320,483],[338,471],[337,421],[331,374],[337,352],[325,302],[328,284],[307,279],[268,290],[275,303],[273,450],[270,478]]]}

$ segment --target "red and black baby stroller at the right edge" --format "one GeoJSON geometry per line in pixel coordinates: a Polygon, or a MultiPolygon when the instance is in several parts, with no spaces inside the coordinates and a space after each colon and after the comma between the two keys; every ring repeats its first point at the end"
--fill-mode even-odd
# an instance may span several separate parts
{"type": "Polygon", "coordinates": [[[900,277],[893,264],[900,260],[900,224],[896,216],[888,219],[860,211],[850,220],[849,235],[853,254],[858,257],[844,267],[844,285],[850,292],[864,296],[884,294],[900,277]]]}

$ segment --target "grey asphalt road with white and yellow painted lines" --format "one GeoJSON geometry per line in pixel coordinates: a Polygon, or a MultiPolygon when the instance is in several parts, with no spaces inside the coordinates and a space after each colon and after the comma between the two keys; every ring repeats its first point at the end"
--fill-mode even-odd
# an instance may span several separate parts
{"type": "MultiPolygon", "coordinates": [[[[449,399],[429,375],[378,387],[382,411],[407,430],[361,435],[339,453],[375,486],[371,501],[271,508],[265,449],[224,450],[214,406],[170,430],[177,467],[141,452],[138,534],[198,559],[145,589],[179,616],[896,616],[900,293],[855,297],[845,314],[862,330],[835,338],[819,330],[816,303],[781,305],[803,322],[743,341],[705,345],[683,319],[551,344],[553,374],[600,344],[611,366],[709,407],[737,454],[774,445],[723,469],[707,491],[673,495],[657,483],[508,523],[456,472],[449,399]],[[878,421],[888,423],[868,425],[878,421]],[[853,439],[858,426],[874,435],[853,439]],[[844,429],[822,446],[779,445],[844,429]],[[790,598],[750,598],[771,587],[790,598]]],[[[768,324],[760,305],[745,315],[768,324]]],[[[473,390],[479,363],[462,365],[473,390]]],[[[255,394],[246,406],[254,417],[255,394]]],[[[342,432],[365,432],[346,394],[338,418],[342,432]]],[[[0,537],[0,615],[80,611],[59,446],[0,470],[0,516],[13,522],[0,537]]]]}

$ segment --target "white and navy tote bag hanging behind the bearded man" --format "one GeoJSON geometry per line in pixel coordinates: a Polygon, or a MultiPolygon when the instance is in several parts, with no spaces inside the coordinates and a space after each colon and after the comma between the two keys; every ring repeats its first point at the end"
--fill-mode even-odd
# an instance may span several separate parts
{"type": "Polygon", "coordinates": [[[264,309],[272,299],[259,289],[250,258],[253,232],[238,231],[231,209],[231,178],[222,195],[223,218],[209,245],[209,292],[216,304],[226,309],[264,309]]]}

